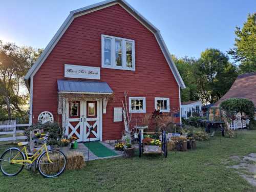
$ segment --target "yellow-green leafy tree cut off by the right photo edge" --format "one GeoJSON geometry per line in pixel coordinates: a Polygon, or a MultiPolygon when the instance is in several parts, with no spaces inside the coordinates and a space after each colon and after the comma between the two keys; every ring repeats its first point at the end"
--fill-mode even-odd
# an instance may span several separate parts
{"type": "Polygon", "coordinates": [[[249,14],[243,28],[236,27],[234,33],[237,35],[234,48],[228,54],[240,62],[242,73],[256,71],[256,13],[249,14]]]}

